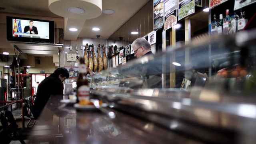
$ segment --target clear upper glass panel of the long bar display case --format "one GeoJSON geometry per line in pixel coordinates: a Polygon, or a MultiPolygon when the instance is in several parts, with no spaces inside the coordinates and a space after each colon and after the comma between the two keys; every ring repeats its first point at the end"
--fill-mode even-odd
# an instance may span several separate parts
{"type": "Polygon", "coordinates": [[[167,52],[144,56],[96,74],[91,88],[179,90],[190,98],[252,96],[255,86],[255,30],[212,37],[167,52]],[[168,74],[168,79],[164,77],[168,74]]]}

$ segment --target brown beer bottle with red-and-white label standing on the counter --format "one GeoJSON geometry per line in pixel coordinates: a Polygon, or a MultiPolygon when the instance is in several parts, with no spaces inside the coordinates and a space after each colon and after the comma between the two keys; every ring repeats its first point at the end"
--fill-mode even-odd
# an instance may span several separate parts
{"type": "Polygon", "coordinates": [[[80,71],[78,79],[76,81],[76,102],[79,104],[87,104],[89,101],[89,82],[86,79],[86,65],[84,63],[84,58],[80,58],[80,71]]]}

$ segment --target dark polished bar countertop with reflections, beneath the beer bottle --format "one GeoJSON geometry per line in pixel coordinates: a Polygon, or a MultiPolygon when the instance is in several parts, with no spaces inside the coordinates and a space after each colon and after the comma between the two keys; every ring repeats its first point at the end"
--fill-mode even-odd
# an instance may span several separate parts
{"type": "Polygon", "coordinates": [[[77,111],[73,106],[60,103],[62,99],[63,96],[50,97],[31,131],[29,143],[204,143],[117,110],[114,110],[114,119],[100,111],[77,111]]]}

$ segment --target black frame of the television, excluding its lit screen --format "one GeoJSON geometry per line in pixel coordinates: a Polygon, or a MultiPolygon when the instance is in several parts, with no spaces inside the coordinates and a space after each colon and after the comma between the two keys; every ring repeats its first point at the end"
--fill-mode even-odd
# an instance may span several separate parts
{"type": "Polygon", "coordinates": [[[21,18],[21,17],[12,17],[6,16],[6,26],[7,26],[7,40],[16,41],[16,42],[32,42],[32,43],[49,43],[54,44],[54,21],[50,20],[38,20],[32,18],[21,18]],[[12,36],[12,19],[22,19],[22,20],[33,20],[39,22],[49,22],[49,39],[44,38],[24,38],[24,37],[14,37],[12,36]]]}

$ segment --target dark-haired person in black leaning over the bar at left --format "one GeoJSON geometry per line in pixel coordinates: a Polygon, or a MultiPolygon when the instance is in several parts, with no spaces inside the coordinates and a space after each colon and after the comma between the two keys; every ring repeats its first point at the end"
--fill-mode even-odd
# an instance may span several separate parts
{"type": "Polygon", "coordinates": [[[53,74],[40,83],[36,92],[34,105],[32,106],[34,118],[40,116],[40,113],[51,95],[63,94],[64,87],[62,82],[68,77],[69,73],[66,68],[57,68],[53,74]]]}

